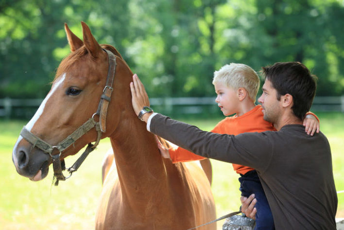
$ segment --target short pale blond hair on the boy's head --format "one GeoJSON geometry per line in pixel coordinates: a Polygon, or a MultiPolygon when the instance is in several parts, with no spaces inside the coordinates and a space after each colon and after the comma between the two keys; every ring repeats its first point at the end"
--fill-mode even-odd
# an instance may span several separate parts
{"type": "Polygon", "coordinates": [[[231,63],[214,72],[213,85],[222,82],[234,89],[244,88],[255,103],[259,89],[259,77],[256,71],[244,64],[231,63]]]}

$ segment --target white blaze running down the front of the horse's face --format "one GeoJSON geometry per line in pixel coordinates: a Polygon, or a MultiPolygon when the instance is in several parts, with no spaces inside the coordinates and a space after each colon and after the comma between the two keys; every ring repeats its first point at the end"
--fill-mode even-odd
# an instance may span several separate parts
{"type": "MultiPolygon", "coordinates": [[[[36,123],[36,121],[39,119],[39,117],[42,115],[44,107],[47,103],[47,101],[49,100],[49,98],[52,96],[52,94],[55,92],[55,90],[63,83],[63,81],[65,80],[66,77],[66,73],[62,74],[62,76],[60,76],[55,84],[52,86],[52,89],[50,90],[50,92],[48,93],[48,95],[44,98],[42,104],[39,106],[39,108],[37,109],[36,113],[34,114],[33,118],[30,120],[30,122],[28,124],[26,124],[26,128],[31,131],[31,129],[34,127],[34,124],[36,123]]],[[[14,148],[13,148],[13,152],[12,155],[15,155],[15,152],[17,150],[17,145],[19,144],[19,142],[22,140],[23,138],[21,136],[19,136],[14,148]]],[[[12,158],[14,161],[15,166],[18,166],[18,161],[17,158],[12,158]]]]}

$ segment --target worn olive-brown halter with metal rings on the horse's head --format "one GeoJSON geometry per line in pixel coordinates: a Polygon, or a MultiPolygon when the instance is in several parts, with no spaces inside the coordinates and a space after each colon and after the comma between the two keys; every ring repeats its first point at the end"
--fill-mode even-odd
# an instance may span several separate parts
{"type": "Polygon", "coordinates": [[[107,78],[106,78],[106,85],[103,89],[103,93],[98,105],[97,112],[93,114],[93,116],[88,119],[84,124],[82,124],[79,128],[77,128],[72,134],[70,134],[65,140],[62,142],[59,142],[58,144],[52,146],[49,143],[43,141],[39,137],[35,136],[32,132],[30,132],[25,126],[20,132],[20,136],[22,136],[26,141],[33,144],[33,147],[37,147],[41,150],[43,150],[45,153],[48,153],[50,155],[49,161],[52,161],[52,167],[54,170],[54,179],[55,179],[55,186],[58,185],[59,180],[66,180],[69,178],[73,172],[77,171],[82,162],[86,159],[88,154],[92,152],[98,143],[100,142],[102,138],[102,132],[106,131],[106,115],[107,115],[107,108],[109,106],[109,103],[111,101],[111,94],[113,91],[113,82],[115,78],[116,73],[116,56],[108,51],[103,49],[108,56],[109,60],[109,69],[107,72],[107,78]],[[94,120],[94,116],[99,116],[99,122],[96,122],[94,120]],[[86,150],[84,153],[80,156],[79,159],[75,161],[75,163],[67,170],[69,172],[69,176],[65,177],[62,173],[63,170],[66,169],[65,167],[65,161],[64,159],[60,159],[61,153],[67,149],[71,144],[74,144],[79,138],[81,138],[84,134],[86,134],[89,130],[91,130],[93,127],[96,128],[96,131],[98,133],[97,140],[94,144],[88,143],[86,150]],[[59,154],[52,155],[52,152],[54,149],[57,149],[59,151],[59,154]]]}

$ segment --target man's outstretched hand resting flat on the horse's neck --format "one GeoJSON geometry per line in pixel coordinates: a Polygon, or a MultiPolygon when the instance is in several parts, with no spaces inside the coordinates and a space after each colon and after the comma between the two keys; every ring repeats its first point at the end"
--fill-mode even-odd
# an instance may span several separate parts
{"type": "MultiPolygon", "coordinates": [[[[130,90],[131,90],[131,102],[133,104],[133,109],[135,114],[138,116],[138,113],[144,106],[149,106],[149,98],[140,79],[138,79],[138,75],[135,73],[133,75],[133,81],[130,83],[130,90]]],[[[142,116],[142,120],[147,123],[148,118],[152,115],[152,113],[145,113],[142,116]]]]}

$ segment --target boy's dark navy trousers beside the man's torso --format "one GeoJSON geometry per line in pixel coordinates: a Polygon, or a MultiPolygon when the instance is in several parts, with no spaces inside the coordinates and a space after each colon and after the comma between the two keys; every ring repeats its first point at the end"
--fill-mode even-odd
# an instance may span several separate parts
{"type": "Polygon", "coordinates": [[[268,200],[261,186],[256,170],[247,172],[239,177],[240,191],[242,196],[249,197],[255,194],[256,203],[256,227],[254,230],[275,230],[274,219],[268,200]]]}

